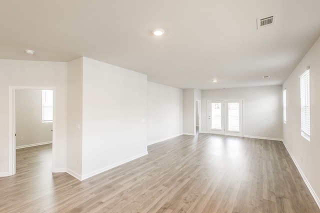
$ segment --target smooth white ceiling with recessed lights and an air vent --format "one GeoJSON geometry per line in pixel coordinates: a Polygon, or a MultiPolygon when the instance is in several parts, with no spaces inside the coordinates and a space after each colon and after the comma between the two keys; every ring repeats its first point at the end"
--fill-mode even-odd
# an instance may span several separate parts
{"type": "Polygon", "coordinates": [[[0,0],[0,20],[2,59],[85,56],[179,88],[229,88],[282,84],[320,36],[320,0],[0,0]]]}

